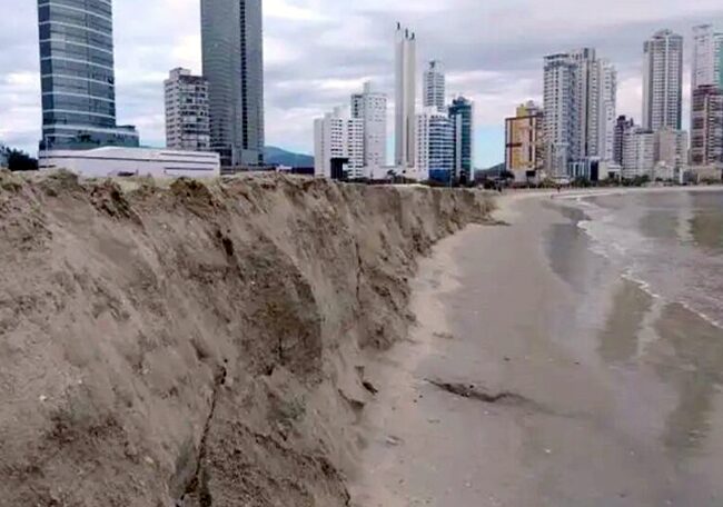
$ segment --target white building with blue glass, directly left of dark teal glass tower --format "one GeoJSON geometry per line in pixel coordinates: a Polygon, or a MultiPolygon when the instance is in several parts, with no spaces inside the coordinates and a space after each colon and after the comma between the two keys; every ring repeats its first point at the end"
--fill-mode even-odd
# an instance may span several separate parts
{"type": "Polygon", "coordinates": [[[455,137],[449,117],[436,107],[417,115],[417,171],[423,178],[449,182],[454,172],[455,137]]]}

